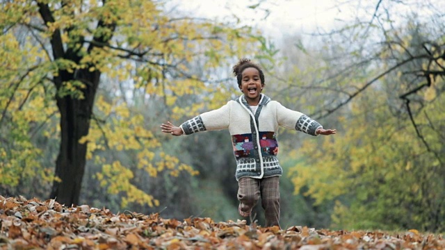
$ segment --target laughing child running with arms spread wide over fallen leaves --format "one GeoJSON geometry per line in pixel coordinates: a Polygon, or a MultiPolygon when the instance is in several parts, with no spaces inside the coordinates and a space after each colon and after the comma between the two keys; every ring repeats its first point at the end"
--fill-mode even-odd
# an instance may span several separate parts
{"type": "Polygon", "coordinates": [[[332,135],[335,129],[324,129],[318,122],[261,94],[264,74],[249,59],[233,67],[243,95],[217,110],[202,113],[177,127],[162,124],[164,133],[190,135],[200,131],[229,129],[236,158],[238,213],[248,217],[261,197],[266,226],[280,226],[280,176],[278,163],[278,126],[296,129],[309,135],[332,135]]]}

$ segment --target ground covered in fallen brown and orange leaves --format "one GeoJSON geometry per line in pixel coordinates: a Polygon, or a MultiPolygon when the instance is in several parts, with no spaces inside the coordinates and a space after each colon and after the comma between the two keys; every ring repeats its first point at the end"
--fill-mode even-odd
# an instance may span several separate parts
{"type": "Polygon", "coordinates": [[[1,249],[445,249],[443,235],[262,228],[0,196],[1,249]]]}

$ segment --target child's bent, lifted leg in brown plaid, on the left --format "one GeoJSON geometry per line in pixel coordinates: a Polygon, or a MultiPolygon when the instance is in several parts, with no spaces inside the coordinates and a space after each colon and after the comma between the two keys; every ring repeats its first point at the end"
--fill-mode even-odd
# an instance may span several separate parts
{"type": "Polygon", "coordinates": [[[238,181],[238,212],[248,217],[259,199],[259,179],[243,177],[238,181]]]}

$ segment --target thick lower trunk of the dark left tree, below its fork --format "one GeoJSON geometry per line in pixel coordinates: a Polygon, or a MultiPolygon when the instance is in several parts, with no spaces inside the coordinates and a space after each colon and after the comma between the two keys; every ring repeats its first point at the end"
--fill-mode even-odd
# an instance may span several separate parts
{"type": "Polygon", "coordinates": [[[86,84],[83,90],[85,98],[77,99],[69,95],[56,97],[60,111],[60,149],[55,174],[61,182],[54,181],[51,190],[51,198],[66,206],[79,205],[87,149],[87,143],[80,144],[79,139],[88,135],[100,72],[81,70],[71,77],[71,80],[75,78],[86,84]]]}

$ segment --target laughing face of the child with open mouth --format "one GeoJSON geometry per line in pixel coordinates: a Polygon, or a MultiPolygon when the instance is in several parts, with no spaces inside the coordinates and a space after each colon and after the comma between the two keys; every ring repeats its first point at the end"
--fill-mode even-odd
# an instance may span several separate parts
{"type": "Polygon", "coordinates": [[[243,70],[239,88],[244,93],[245,100],[248,101],[250,106],[258,105],[263,87],[264,83],[261,83],[258,69],[248,67],[243,70]]]}

